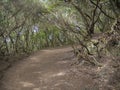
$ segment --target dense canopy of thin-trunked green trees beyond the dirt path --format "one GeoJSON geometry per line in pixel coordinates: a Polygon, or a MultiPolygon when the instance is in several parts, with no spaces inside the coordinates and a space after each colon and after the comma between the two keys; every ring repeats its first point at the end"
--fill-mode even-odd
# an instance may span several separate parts
{"type": "Polygon", "coordinates": [[[118,0],[1,0],[0,55],[80,44],[110,32],[118,0]]]}

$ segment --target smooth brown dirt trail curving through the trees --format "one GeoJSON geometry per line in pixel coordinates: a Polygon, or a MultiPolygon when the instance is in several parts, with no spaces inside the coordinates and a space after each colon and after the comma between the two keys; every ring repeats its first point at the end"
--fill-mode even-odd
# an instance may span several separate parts
{"type": "Polygon", "coordinates": [[[70,47],[41,50],[11,67],[0,90],[93,90],[92,77],[84,73],[78,77],[73,62],[70,47]]]}

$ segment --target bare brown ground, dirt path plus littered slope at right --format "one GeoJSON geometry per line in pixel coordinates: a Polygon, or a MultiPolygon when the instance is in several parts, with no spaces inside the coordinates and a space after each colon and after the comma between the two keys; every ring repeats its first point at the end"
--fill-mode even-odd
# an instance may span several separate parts
{"type": "Polygon", "coordinates": [[[9,68],[0,90],[114,90],[110,60],[102,67],[75,62],[70,47],[41,50],[9,68]]]}

